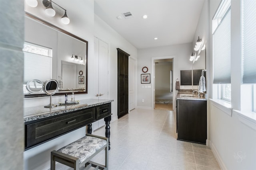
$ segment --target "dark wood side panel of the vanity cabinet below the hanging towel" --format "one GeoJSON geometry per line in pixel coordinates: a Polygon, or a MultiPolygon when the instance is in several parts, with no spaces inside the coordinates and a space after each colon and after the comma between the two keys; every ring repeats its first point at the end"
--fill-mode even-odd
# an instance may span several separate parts
{"type": "Polygon", "coordinates": [[[177,100],[178,140],[206,144],[207,101],[177,100]]]}

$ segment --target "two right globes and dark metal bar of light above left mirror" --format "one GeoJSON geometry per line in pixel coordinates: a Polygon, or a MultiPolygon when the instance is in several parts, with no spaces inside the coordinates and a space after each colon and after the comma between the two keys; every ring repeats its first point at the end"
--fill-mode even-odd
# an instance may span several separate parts
{"type": "MultiPolygon", "coordinates": [[[[52,0],[43,0],[43,4],[46,8],[45,12],[48,16],[51,16],[51,17],[55,16],[55,14],[56,14],[54,8],[52,7],[52,3],[56,4],[52,0]]],[[[59,6],[58,4],[56,4],[56,5],[59,6]]],[[[61,6],[59,6],[59,7],[62,8],[61,6]]],[[[64,8],[62,8],[62,9],[65,10],[64,8]]],[[[67,16],[67,10],[65,10],[65,14],[62,16],[61,21],[62,21],[62,23],[66,24],[66,25],[69,24],[70,20],[67,16]]]]}

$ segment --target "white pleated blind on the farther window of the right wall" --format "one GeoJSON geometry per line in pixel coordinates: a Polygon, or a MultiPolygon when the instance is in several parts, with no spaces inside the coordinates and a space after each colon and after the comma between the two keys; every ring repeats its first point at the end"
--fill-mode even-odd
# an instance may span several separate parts
{"type": "Polygon", "coordinates": [[[213,33],[213,83],[214,84],[229,84],[231,83],[230,70],[230,15],[228,10],[226,16],[218,25],[213,33]]]}

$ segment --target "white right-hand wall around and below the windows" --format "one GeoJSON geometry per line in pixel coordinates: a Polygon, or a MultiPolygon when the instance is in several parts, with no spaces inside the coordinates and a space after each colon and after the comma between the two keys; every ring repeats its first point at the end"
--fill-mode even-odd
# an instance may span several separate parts
{"type": "MultiPolygon", "coordinates": [[[[210,22],[219,4],[220,0],[210,0],[210,22]]],[[[212,41],[211,30],[210,26],[210,43],[212,41]]],[[[233,109],[238,110],[242,107],[241,100],[249,102],[251,95],[243,99],[240,97],[242,96],[240,92],[240,42],[240,0],[231,0],[231,104],[233,109]]],[[[212,70],[212,48],[210,51],[210,63],[208,64],[211,64],[212,70]]],[[[212,88],[212,80],[210,86],[212,88]]],[[[212,90],[212,93],[210,96],[214,96],[216,91],[212,90]]],[[[210,146],[221,168],[228,170],[256,169],[256,130],[242,123],[237,111],[233,110],[231,116],[227,115],[221,106],[213,105],[212,102],[210,102],[208,111],[210,115],[210,146]]]]}

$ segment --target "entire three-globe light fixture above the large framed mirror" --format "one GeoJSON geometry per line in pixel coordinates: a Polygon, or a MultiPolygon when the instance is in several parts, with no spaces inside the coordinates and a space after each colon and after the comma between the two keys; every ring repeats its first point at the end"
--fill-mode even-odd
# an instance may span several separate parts
{"type": "MultiPolygon", "coordinates": [[[[45,7],[45,12],[48,16],[53,17],[55,16],[56,12],[54,10],[54,8],[52,7],[52,3],[56,4],[55,2],[53,2],[52,0],[43,0],[43,5],[45,7]]],[[[28,6],[31,7],[36,7],[38,5],[37,0],[26,0],[26,4],[28,4],[28,6]]],[[[56,4],[57,6],[59,6],[58,4],[56,4]]],[[[62,8],[61,6],[59,6],[60,8],[62,8]]],[[[64,8],[62,8],[63,10],[65,10],[64,8]]],[[[62,16],[61,18],[62,23],[64,24],[69,24],[70,20],[67,16],[67,10],[65,10],[65,14],[62,16]]]]}

